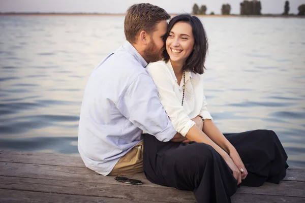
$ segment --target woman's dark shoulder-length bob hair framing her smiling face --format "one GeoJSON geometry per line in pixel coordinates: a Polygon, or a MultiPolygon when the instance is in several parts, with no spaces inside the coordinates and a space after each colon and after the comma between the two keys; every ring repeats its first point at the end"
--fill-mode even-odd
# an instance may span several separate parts
{"type": "MultiPolygon", "coordinates": [[[[190,14],[180,14],[173,17],[168,24],[167,33],[164,38],[164,44],[169,35],[170,30],[177,22],[187,22],[192,26],[193,36],[194,36],[194,49],[190,56],[187,58],[184,66],[182,67],[185,71],[190,71],[195,74],[204,73],[204,62],[206,53],[208,50],[208,42],[206,37],[206,32],[199,18],[196,16],[191,16],[190,14]]],[[[166,62],[169,60],[169,55],[166,49],[163,52],[163,60],[166,62]]]]}

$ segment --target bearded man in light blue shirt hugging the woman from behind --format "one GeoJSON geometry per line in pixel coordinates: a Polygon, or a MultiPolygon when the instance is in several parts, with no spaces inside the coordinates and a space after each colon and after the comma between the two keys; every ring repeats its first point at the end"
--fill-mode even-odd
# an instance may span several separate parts
{"type": "Polygon", "coordinates": [[[143,172],[143,130],[163,142],[186,140],[176,134],[144,68],[162,59],[169,18],[151,4],[131,6],[124,22],[127,42],[108,55],[87,82],[78,151],[86,167],[99,174],[143,172]]]}

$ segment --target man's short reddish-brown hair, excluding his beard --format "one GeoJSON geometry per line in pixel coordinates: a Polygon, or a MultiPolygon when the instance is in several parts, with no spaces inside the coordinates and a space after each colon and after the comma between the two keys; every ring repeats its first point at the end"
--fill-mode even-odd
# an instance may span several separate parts
{"type": "Polygon", "coordinates": [[[148,34],[156,30],[156,25],[162,20],[170,19],[170,15],[158,6],[151,4],[135,4],[129,7],[124,21],[126,40],[132,44],[137,42],[137,36],[144,30],[148,34]]]}

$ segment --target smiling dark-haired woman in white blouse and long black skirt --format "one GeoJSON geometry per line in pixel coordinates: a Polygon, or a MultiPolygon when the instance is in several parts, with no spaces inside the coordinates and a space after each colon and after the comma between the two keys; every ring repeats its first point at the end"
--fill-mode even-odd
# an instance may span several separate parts
{"type": "MultiPolygon", "coordinates": [[[[144,134],[144,172],[153,183],[192,190],[198,202],[230,202],[237,185],[279,183],[287,155],[275,132],[222,134],[203,95],[208,49],[201,21],[188,14],[169,22],[163,61],[146,69],[181,142],[160,142],[144,134]]],[[[177,137],[178,138],[178,137],[177,137]]],[[[175,139],[173,139],[175,141],[175,139]]]]}

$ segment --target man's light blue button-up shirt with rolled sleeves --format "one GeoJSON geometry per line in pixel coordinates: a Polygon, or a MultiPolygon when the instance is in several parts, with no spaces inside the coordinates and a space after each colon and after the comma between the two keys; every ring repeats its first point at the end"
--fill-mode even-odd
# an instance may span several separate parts
{"type": "Polygon", "coordinates": [[[147,62],[126,42],[93,71],[81,106],[78,151],[86,167],[108,175],[142,141],[142,131],[167,142],[176,133],[147,74],[147,62]]]}

